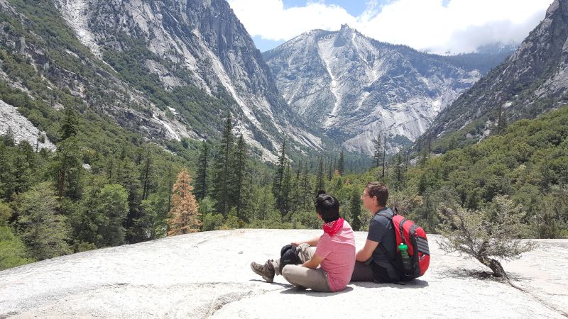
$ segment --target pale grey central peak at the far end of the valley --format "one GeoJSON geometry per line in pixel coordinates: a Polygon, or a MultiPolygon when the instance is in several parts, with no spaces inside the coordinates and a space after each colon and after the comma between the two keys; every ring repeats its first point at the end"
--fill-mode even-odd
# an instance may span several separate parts
{"type": "Polygon", "coordinates": [[[348,150],[369,155],[378,134],[390,152],[412,143],[481,77],[474,63],[464,63],[469,56],[381,43],[347,25],[304,33],[263,57],[293,111],[348,150]]]}

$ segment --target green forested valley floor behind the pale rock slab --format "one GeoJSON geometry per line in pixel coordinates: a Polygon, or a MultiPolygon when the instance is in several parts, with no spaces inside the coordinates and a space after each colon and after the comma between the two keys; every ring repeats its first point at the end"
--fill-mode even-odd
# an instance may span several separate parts
{"type": "MultiPolygon", "coordinates": [[[[506,196],[523,216],[524,237],[568,237],[568,107],[443,155],[423,147],[389,156],[378,136],[363,173],[346,168],[343,152],[292,161],[285,140],[278,163],[260,162],[232,133],[230,113],[219,142],[186,139],[170,150],[127,135],[97,140],[80,113],[60,113],[55,152],[1,136],[1,269],[197,231],[320,228],[312,201],[321,189],[366,230],[359,196],[374,180],[390,187],[389,206],[430,233],[442,205],[484,210],[506,196]]],[[[357,164],[366,165],[349,166],[357,164]]]]}

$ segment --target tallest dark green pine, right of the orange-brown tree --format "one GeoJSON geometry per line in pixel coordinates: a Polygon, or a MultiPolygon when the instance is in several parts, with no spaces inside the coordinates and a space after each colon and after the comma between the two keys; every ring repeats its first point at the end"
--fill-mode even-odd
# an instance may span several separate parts
{"type": "Polygon", "coordinates": [[[219,151],[217,152],[217,158],[215,159],[214,167],[214,187],[213,187],[213,198],[217,201],[216,209],[219,213],[222,213],[226,217],[231,208],[231,189],[229,189],[229,183],[232,180],[231,172],[231,158],[234,152],[234,136],[232,132],[231,113],[227,115],[225,128],[223,130],[223,135],[221,142],[219,143],[219,151]]]}

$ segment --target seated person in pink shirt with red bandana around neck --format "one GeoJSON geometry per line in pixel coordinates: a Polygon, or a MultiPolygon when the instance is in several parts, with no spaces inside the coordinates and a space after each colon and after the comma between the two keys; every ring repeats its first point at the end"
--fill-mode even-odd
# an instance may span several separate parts
{"type": "Polygon", "coordinates": [[[281,260],[269,259],[264,265],[252,262],[253,272],[268,282],[273,282],[275,275],[282,274],[290,284],[314,291],[344,290],[351,280],[355,264],[353,230],[349,223],[339,217],[339,202],[334,196],[318,195],[315,211],[317,217],[324,220],[323,235],[312,240],[292,242],[297,246],[297,257],[302,265],[287,264],[280,271],[281,260]]]}

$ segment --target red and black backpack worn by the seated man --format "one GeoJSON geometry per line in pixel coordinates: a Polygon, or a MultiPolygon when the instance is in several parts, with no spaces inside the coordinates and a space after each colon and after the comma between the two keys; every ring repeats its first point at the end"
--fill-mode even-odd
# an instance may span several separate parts
{"type": "Polygon", "coordinates": [[[422,276],[430,265],[430,250],[428,249],[426,232],[412,220],[398,215],[395,211],[393,211],[393,216],[388,213],[379,213],[379,215],[385,216],[393,222],[397,252],[396,259],[393,261],[393,267],[400,274],[401,281],[415,279],[422,276]],[[398,245],[401,243],[408,245],[410,269],[403,267],[400,250],[398,250],[398,245]]]}

